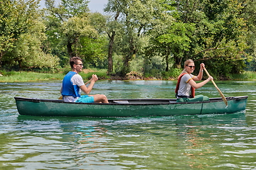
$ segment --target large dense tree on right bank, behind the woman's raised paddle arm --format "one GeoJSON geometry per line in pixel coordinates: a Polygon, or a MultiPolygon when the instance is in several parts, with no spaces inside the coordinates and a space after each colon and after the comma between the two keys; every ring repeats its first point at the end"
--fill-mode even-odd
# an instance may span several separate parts
{"type": "Polygon", "coordinates": [[[186,58],[192,55],[193,60],[214,64],[215,67],[209,67],[209,70],[220,79],[228,79],[233,72],[242,72],[245,67],[242,60],[247,49],[247,28],[245,21],[238,17],[240,3],[215,1],[198,6],[201,10],[200,21],[196,13],[189,17],[191,22],[196,21],[198,25],[191,45],[193,48],[186,58]]]}

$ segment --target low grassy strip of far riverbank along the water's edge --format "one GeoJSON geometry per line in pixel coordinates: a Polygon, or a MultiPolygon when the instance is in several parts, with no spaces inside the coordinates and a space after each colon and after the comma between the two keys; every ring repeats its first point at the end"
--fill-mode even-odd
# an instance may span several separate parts
{"type": "MultiPolygon", "coordinates": [[[[1,72],[0,82],[26,82],[26,81],[48,81],[48,80],[62,80],[65,72],[58,73],[41,73],[41,72],[1,72]]],[[[94,70],[84,69],[80,72],[83,79],[88,80],[92,74],[97,74],[99,80],[176,80],[177,77],[143,77],[142,74],[137,72],[130,72],[127,77],[108,76],[105,69],[94,70]]],[[[204,75],[206,77],[206,74],[204,75]]],[[[217,78],[215,78],[218,80],[217,78]]],[[[256,72],[243,72],[240,74],[231,74],[227,80],[252,80],[256,81],[256,72]]]]}

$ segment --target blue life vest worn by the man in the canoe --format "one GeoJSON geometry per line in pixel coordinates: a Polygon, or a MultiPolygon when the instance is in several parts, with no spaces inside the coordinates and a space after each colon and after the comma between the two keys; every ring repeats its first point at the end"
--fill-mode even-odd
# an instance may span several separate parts
{"type": "Polygon", "coordinates": [[[73,96],[80,97],[79,90],[80,87],[78,85],[73,85],[71,78],[77,74],[76,72],[68,72],[63,79],[63,89],[61,91],[62,96],[73,96]]]}

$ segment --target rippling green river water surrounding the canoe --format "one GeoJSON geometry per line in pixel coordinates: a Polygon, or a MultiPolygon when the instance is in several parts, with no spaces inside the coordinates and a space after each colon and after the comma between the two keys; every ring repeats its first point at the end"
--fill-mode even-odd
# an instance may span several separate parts
{"type": "MultiPolygon", "coordinates": [[[[256,169],[256,81],[215,81],[249,96],[218,115],[66,118],[18,115],[14,96],[58,98],[60,81],[0,83],[0,169],[256,169]]],[[[176,81],[97,81],[108,98],[174,98],[176,81]]],[[[196,94],[219,97],[210,82],[196,94]]]]}

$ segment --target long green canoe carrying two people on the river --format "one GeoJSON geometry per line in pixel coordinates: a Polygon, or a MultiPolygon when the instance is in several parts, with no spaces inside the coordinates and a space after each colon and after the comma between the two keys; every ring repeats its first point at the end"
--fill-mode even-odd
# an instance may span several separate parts
{"type": "Polygon", "coordinates": [[[18,113],[40,116],[168,116],[213,113],[235,113],[245,110],[248,96],[227,97],[210,101],[176,103],[176,99],[112,99],[110,103],[75,103],[63,100],[15,97],[18,113]]]}

